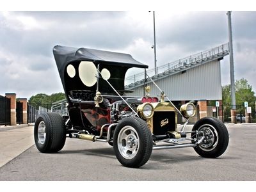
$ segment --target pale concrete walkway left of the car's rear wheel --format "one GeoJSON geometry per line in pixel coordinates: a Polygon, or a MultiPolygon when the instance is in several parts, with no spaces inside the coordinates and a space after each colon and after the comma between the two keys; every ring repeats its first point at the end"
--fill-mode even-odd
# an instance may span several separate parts
{"type": "Polygon", "coordinates": [[[35,144],[33,129],[28,125],[0,127],[0,167],[35,144]]]}

